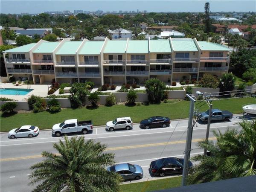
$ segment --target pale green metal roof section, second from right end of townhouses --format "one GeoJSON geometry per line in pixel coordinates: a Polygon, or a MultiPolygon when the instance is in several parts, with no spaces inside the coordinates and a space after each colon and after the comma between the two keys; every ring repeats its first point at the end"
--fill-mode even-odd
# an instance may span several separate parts
{"type": "Polygon", "coordinates": [[[172,46],[174,51],[198,51],[191,38],[172,38],[172,46]]]}

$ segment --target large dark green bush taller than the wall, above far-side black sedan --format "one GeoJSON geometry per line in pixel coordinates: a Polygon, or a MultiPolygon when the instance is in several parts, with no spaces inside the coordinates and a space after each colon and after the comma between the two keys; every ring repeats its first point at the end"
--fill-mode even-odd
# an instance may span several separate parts
{"type": "Polygon", "coordinates": [[[159,79],[152,78],[145,82],[145,87],[149,102],[160,103],[166,88],[165,83],[159,79]]]}

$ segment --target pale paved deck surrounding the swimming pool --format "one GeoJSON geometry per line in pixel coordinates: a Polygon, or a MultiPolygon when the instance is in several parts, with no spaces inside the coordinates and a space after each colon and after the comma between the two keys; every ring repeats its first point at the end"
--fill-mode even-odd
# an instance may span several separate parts
{"type": "MultiPolygon", "coordinates": [[[[15,99],[17,101],[26,101],[30,96],[41,96],[46,97],[48,92],[48,86],[51,84],[23,84],[20,86],[15,86],[12,83],[1,83],[0,88],[13,88],[13,89],[33,89],[26,95],[1,95],[1,97],[6,97],[9,99],[15,99]]],[[[50,89],[50,88],[49,88],[50,89]]]]}

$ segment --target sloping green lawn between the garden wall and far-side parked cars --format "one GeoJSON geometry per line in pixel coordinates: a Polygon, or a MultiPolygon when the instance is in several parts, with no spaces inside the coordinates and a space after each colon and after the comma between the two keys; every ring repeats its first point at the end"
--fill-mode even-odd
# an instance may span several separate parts
{"type": "MultiPolygon", "coordinates": [[[[213,108],[229,110],[232,113],[241,113],[242,106],[248,103],[256,103],[255,98],[224,99],[213,101],[213,108]]],[[[201,111],[207,109],[207,105],[201,107],[201,111]]],[[[125,105],[114,105],[112,107],[99,106],[96,109],[63,109],[59,113],[51,114],[47,111],[41,113],[18,113],[13,116],[0,119],[0,131],[9,131],[21,125],[36,125],[40,129],[52,128],[52,125],[65,119],[92,120],[93,125],[105,125],[107,121],[116,117],[131,116],[133,122],[140,122],[150,116],[167,116],[170,119],[187,118],[189,112],[189,101],[169,99],[168,103],[159,105],[140,105],[129,107],[125,105]]]]}

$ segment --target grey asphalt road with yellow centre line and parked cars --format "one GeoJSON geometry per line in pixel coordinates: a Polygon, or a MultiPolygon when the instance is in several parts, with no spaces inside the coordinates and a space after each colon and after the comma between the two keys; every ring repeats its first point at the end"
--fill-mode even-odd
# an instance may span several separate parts
{"type": "MultiPolygon", "coordinates": [[[[219,128],[225,131],[227,127],[239,128],[236,125],[241,120],[234,116],[229,122],[214,122],[211,129],[219,128]]],[[[116,154],[117,163],[129,162],[143,167],[143,179],[138,181],[158,179],[151,177],[148,172],[149,163],[159,157],[183,157],[186,142],[187,119],[175,120],[167,128],[140,129],[138,124],[132,130],[107,132],[105,127],[93,128],[93,132],[84,138],[94,139],[108,145],[107,151],[116,154]],[[171,137],[172,136],[172,137],[171,137]],[[170,138],[171,137],[171,138],[170,138]],[[169,140],[170,138],[170,140],[169,140]],[[167,143],[168,142],[168,143],[167,143]]],[[[198,122],[193,130],[191,154],[202,153],[197,142],[205,138],[207,125],[198,122]]],[[[72,137],[69,135],[68,137],[72,137]]],[[[0,191],[29,192],[29,167],[43,160],[42,151],[54,151],[52,143],[63,137],[52,137],[51,131],[41,131],[37,137],[9,139],[7,134],[0,134],[0,191]]],[[[214,140],[210,132],[209,139],[214,140]]],[[[133,183],[138,181],[126,181],[133,183]]]]}

